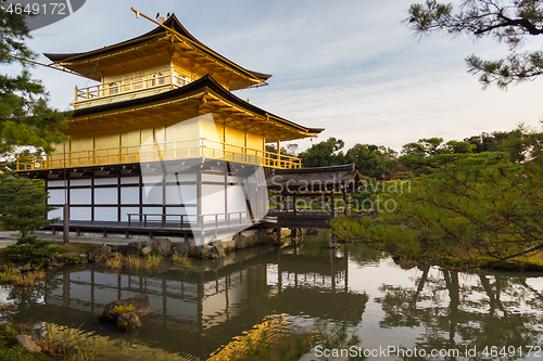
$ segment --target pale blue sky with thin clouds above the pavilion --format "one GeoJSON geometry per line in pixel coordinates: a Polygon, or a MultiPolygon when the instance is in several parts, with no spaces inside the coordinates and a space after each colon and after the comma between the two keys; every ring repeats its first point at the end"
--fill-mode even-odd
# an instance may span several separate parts
{"type": "MultiPolygon", "coordinates": [[[[201,42],[235,63],[273,74],[269,86],[235,91],[269,113],[330,137],[401,151],[422,138],[462,140],[519,124],[541,129],[543,78],[482,90],[465,59],[507,54],[492,39],[415,37],[402,21],[416,0],[87,0],[71,16],[31,31],[37,53],[72,53],[121,42],[155,27],[130,8],[154,17],[175,13],[201,42]]],[[[523,50],[540,50],[530,39],[523,50]]],[[[49,63],[45,56],[38,61],[49,63]]],[[[13,68],[8,68],[9,73],[13,68]]],[[[96,82],[45,67],[50,105],[70,109],[74,87],[96,82]]],[[[287,144],[285,144],[287,145],[287,144]]]]}

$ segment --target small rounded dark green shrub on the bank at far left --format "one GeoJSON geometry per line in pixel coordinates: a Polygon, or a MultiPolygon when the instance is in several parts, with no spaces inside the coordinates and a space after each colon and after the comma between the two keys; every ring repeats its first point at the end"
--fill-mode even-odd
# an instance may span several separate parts
{"type": "Polygon", "coordinates": [[[29,260],[36,267],[42,267],[56,257],[60,246],[50,246],[54,241],[43,241],[38,236],[23,236],[17,243],[9,245],[10,257],[17,260],[29,260]]]}

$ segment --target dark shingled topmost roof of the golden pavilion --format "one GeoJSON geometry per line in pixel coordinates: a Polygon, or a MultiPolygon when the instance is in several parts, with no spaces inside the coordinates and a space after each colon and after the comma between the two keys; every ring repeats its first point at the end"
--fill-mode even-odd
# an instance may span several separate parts
{"type": "MultiPolygon", "coordinates": [[[[206,47],[204,43],[200,42],[200,40],[198,40],[197,38],[194,38],[192,36],[192,34],[190,34],[181,25],[181,23],[179,23],[179,21],[175,16],[175,14],[172,14],[172,16],[169,16],[164,22],[163,25],[167,26],[169,28],[173,28],[175,31],[179,33],[185,38],[187,38],[187,39],[195,42],[210,56],[212,56],[213,59],[215,59],[215,60],[217,60],[217,61],[219,61],[219,62],[222,62],[224,64],[228,64],[229,66],[238,68],[238,69],[247,73],[248,75],[251,75],[251,76],[253,76],[255,78],[258,78],[258,79],[262,79],[262,80],[266,80],[266,79],[268,79],[268,78],[272,77],[272,75],[269,75],[269,74],[263,74],[263,73],[258,73],[258,72],[253,72],[253,70],[245,69],[245,68],[239,66],[238,64],[233,63],[232,61],[229,61],[228,59],[222,56],[220,54],[218,54],[217,52],[215,52],[211,48],[206,47]]],[[[54,63],[60,63],[60,62],[77,62],[77,61],[83,61],[83,60],[86,60],[86,59],[92,59],[92,57],[97,56],[98,54],[104,55],[104,54],[108,54],[110,52],[114,52],[114,51],[118,51],[118,50],[122,50],[122,49],[125,49],[125,48],[134,47],[135,44],[142,43],[142,42],[147,41],[148,39],[152,38],[153,36],[157,36],[157,35],[164,34],[164,33],[166,33],[166,29],[164,27],[162,27],[162,26],[157,26],[153,30],[151,30],[151,31],[149,31],[147,34],[143,34],[143,35],[141,35],[139,37],[136,37],[136,38],[132,38],[132,39],[129,39],[129,40],[116,43],[114,46],[105,47],[105,48],[102,48],[102,49],[91,50],[91,51],[87,51],[87,52],[84,52],[84,53],[70,53],[70,54],[43,53],[43,55],[46,55],[47,57],[49,57],[54,63]]]]}

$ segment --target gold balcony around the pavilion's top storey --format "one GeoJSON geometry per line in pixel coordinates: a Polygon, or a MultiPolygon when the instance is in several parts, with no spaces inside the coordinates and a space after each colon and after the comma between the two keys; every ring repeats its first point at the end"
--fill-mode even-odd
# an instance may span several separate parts
{"type": "Polygon", "coordinates": [[[184,87],[191,81],[192,79],[184,74],[175,72],[172,75],[165,72],[88,88],[78,89],[75,87],[75,101],[72,105],[75,108],[79,108],[83,106],[108,104],[113,101],[119,102],[134,98],[149,96],[162,91],[184,87]]]}

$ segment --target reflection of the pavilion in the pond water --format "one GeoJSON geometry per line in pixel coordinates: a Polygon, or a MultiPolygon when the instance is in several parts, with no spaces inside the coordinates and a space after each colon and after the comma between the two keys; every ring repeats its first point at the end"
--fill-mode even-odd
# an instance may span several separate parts
{"type": "Polygon", "coordinates": [[[139,336],[172,351],[207,356],[270,314],[325,317],[357,323],[367,297],[349,289],[348,261],[326,256],[249,250],[248,256],[206,263],[192,271],[154,275],[85,270],[64,273],[45,294],[41,321],[85,323],[106,304],[148,294],[153,312],[139,336]],[[252,252],[252,253],[251,253],[252,252]],[[175,332],[175,337],[173,333],[175,332]]]}

